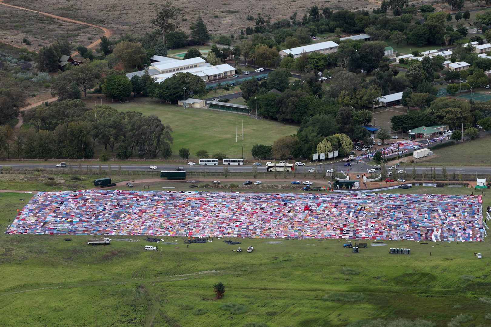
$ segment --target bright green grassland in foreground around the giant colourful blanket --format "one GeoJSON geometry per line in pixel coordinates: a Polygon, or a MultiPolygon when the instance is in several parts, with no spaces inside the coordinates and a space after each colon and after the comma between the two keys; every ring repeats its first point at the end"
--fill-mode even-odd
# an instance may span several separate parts
{"type": "MultiPolygon", "coordinates": [[[[30,196],[0,193],[1,228],[30,196]]],[[[485,197],[483,206],[490,204],[485,197]]],[[[143,250],[150,243],[142,236],[111,236],[110,245],[98,247],[85,244],[90,236],[70,235],[69,242],[65,237],[0,234],[1,326],[340,327],[365,319],[421,318],[444,327],[462,313],[472,318],[460,326],[489,324],[488,240],[368,241],[367,249],[353,253],[343,240],[238,239],[242,244],[228,245],[214,238],[188,249],[182,237],[165,237],[177,244],[153,243],[160,251],[151,252],[143,250]],[[244,252],[233,252],[238,246],[244,252]],[[247,246],[254,251],[246,253],[247,246]],[[410,248],[411,254],[389,254],[391,247],[410,248]],[[216,300],[213,285],[219,281],[225,296],[216,300]],[[324,299],[333,293],[340,294],[324,299]],[[234,314],[221,308],[225,303],[245,309],[234,314]]]]}

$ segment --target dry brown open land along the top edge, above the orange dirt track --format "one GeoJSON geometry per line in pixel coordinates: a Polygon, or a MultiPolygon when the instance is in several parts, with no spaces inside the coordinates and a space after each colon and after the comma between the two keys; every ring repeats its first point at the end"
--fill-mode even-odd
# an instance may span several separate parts
{"type": "MultiPolygon", "coordinates": [[[[319,8],[328,5],[331,9],[370,9],[379,7],[380,2],[350,1],[345,3],[325,3],[323,1],[290,0],[268,0],[258,3],[254,0],[246,1],[206,1],[197,0],[192,2],[171,1],[181,9],[181,17],[187,19],[180,22],[182,29],[189,32],[189,25],[195,20],[199,13],[203,16],[205,24],[213,33],[239,34],[241,29],[254,26],[254,21],[247,21],[246,16],[257,16],[260,12],[265,18],[277,21],[287,18],[295,11],[299,12],[299,18],[303,12],[314,4],[319,8]],[[206,10],[203,10],[205,9],[206,10]],[[215,17],[217,16],[217,17],[215,17]]],[[[125,33],[142,36],[144,31],[150,30],[150,21],[157,13],[159,2],[152,0],[141,1],[117,1],[107,0],[85,0],[83,2],[60,2],[58,0],[6,0],[6,3],[42,10],[62,17],[77,19],[87,23],[102,25],[114,30],[115,34],[125,33]]]]}

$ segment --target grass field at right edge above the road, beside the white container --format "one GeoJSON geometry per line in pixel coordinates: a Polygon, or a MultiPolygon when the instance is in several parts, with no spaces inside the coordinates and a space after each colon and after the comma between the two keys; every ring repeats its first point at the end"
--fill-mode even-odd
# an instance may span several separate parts
{"type": "Polygon", "coordinates": [[[450,147],[434,150],[435,155],[421,161],[422,164],[448,164],[483,166],[491,163],[491,137],[481,137],[450,147]]]}

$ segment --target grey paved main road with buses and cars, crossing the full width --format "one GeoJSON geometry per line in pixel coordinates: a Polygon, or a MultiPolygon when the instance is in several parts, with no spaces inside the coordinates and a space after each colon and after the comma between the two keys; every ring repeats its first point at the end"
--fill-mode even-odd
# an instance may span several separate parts
{"type": "MultiPolygon", "coordinates": [[[[317,167],[317,171],[321,172],[322,171],[322,166],[325,166],[326,170],[331,169],[332,165],[336,167],[337,171],[343,170],[347,171],[349,169],[352,169],[353,172],[355,173],[365,173],[367,172],[367,169],[373,168],[372,166],[368,165],[366,161],[362,161],[359,163],[352,162],[352,166],[345,167],[343,161],[335,162],[335,163],[326,163],[326,164],[318,164],[318,165],[305,165],[305,166],[300,166],[300,167],[295,167],[298,172],[303,173],[303,170],[309,170],[310,168],[317,167]]],[[[28,164],[23,164],[23,163],[1,163],[0,166],[3,167],[14,167],[14,168],[51,168],[51,169],[59,169],[60,171],[67,171],[67,168],[56,168],[55,163],[28,163],[28,164]]],[[[92,167],[92,170],[97,171],[99,169],[99,163],[93,163],[93,162],[87,162],[87,163],[82,163],[82,169],[87,169],[88,166],[92,167]]],[[[103,170],[108,170],[108,164],[102,164],[102,169],[103,170]]],[[[73,164],[72,166],[74,169],[78,169],[78,164],[73,164]]],[[[222,172],[223,171],[223,165],[218,165],[218,166],[182,166],[182,165],[157,165],[157,170],[155,170],[155,173],[158,174],[159,171],[161,170],[175,170],[176,167],[183,167],[186,171],[190,172],[222,172]]],[[[389,167],[387,166],[387,169],[389,167]]],[[[111,165],[112,171],[116,171],[118,169],[117,164],[112,164],[111,165]]],[[[122,170],[132,170],[132,171],[153,171],[146,165],[142,164],[122,164],[121,165],[122,170]]],[[[228,166],[229,172],[252,172],[253,166],[251,164],[244,165],[244,166],[228,166]]],[[[398,169],[403,169],[402,166],[399,166],[398,169]]],[[[462,174],[491,174],[491,166],[490,167],[446,167],[447,172],[449,174],[455,172],[457,174],[462,173],[462,174]]],[[[422,173],[424,171],[431,172],[432,167],[427,167],[427,166],[416,166],[416,172],[422,173]]],[[[258,172],[265,172],[266,171],[266,166],[258,166],[257,167],[258,172]]],[[[412,166],[408,164],[407,166],[407,173],[410,174],[412,171],[412,166]]],[[[436,172],[439,173],[441,172],[441,167],[436,167],[436,172]]]]}

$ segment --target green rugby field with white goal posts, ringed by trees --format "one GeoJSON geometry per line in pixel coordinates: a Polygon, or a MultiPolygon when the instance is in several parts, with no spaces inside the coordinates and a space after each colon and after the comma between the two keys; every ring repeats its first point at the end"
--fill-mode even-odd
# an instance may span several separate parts
{"type": "Polygon", "coordinates": [[[128,103],[110,103],[121,111],[139,111],[144,115],[157,115],[164,125],[170,125],[173,132],[172,145],[174,158],[178,158],[179,149],[188,148],[191,157],[196,151],[207,150],[210,155],[223,152],[229,158],[241,158],[242,146],[244,157],[252,159],[250,153],[256,143],[273,145],[273,142],[285,135],[297,132],[298,126],[270,120],[256,120],[246,115],[222,111],[184,108],[176,105],[161,104],[159,101],[146,98],[132,99],[128,103]],[[244,141],[242,136],[244,122],[244,141]]]}

